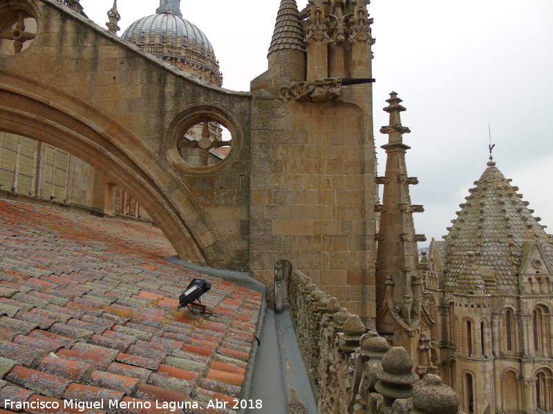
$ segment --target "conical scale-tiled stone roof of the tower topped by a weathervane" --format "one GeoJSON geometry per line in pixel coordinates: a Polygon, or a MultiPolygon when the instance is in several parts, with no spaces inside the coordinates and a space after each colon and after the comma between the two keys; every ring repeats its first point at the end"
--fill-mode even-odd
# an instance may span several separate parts
{"type": "Polygon", "coordinates": [[[532,216],[522,201],[518,188],[509,184],[494,161],[487,164],[482,177],[469,190],[471,195],[458,212],[447,242],[447,277],[449,286],[456,279],[466,261],[466,253],[474,250],[475,265],[480,272],[492,273],[496,288],[502,293],[518,291],[518,270],[525,243],[535,240],[545,256],[553,263],[551,238],[532,216]]]}

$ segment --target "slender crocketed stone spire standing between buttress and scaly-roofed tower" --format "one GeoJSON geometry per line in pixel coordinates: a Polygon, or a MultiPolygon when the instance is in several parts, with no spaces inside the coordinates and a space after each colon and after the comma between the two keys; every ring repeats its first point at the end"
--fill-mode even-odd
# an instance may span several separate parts
{"type": "MultiPolygon", "coordinates": [[[[407,176],[405,153],[409,146],[403,144],[402,136],[411,132],[402,126],[400,112],[406,110],[396,92],[391,92],[384,111],[390,114],[390,124],[380,132],[388,135],[386,150],[386,176],[378,177],[384,184],[380,228],[377,233],[376,289],[377,326],[389,310],[395,322],[411,332],[418,325],[421,313],[421,292],[418,286],[417,242],[424,242],[424,235],[415,234],[413,213],[422,213],[422,206],[411,204],[409,185],[418,184],[414,177],[407,176]]],[[[388,319],[389,322],[389,319],[388,319]]]]}

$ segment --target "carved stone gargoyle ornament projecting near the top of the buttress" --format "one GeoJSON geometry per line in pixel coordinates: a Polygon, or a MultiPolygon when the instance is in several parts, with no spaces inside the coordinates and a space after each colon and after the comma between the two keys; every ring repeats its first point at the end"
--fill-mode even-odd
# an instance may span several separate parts
{"type": "Polygon", "coordinates": [[[319,79],[317,81],[297,82],[290,86],[282,86],[279,99],[296,101],[330,101],[341,93],[341,78],[319,79]]]}

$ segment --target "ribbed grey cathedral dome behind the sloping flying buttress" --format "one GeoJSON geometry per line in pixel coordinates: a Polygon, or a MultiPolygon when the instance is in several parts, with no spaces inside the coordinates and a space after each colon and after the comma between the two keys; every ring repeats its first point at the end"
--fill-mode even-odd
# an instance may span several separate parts
{"type": "Polygon", "coordinates": [[[202,30],[182,18],[180,0],[160,0],[156,14],[132,23],[122,38],[200,81],[223,83],[212,44],[202,30]]]}

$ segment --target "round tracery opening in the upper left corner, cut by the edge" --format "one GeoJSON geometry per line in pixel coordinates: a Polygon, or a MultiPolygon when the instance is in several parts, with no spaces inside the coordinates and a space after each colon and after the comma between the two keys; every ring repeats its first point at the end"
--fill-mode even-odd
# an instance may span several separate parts
{"type": "Polygon", "coordinates": [[[37,17],[23,4],[0,6],[0,55],[26,50],[37,34],[37,17]]]}

